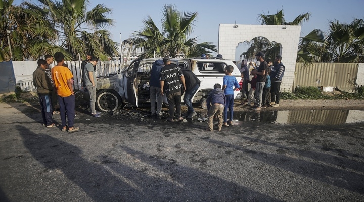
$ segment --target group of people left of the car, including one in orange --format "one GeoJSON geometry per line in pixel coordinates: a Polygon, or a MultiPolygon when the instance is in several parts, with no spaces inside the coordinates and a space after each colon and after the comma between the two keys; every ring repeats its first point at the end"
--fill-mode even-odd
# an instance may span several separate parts
{"type": "MultiPolygon", "coordinates": [[[[83,81],[82,84],[90,92],[91,114],[100,117],[100,112],[95,110],[96,100],[96,75],[94,66],[98,63],[97,57],[87,55],[87,59],[82,62],[83,81]]],[[[56,127],[53,120],[54,114],[60,114],[62,131],[74,132],[79,127],[74,126],[75,118],[75,93],[73,91],[73,75],[68,65],[64,61],[64,55],[57,52],[52,55],[45,55],[44,59],[37,61],[38,67],[33,72],[33,83],[37,89],[43,125],[47,128],[56,127]],[[57,64],[51,68],[53,60],[57,64]],[[57,102],[59,112],[56,111],[57,102]],[[68,125],[67,125],[68,124],[68,125]]]]}

